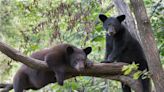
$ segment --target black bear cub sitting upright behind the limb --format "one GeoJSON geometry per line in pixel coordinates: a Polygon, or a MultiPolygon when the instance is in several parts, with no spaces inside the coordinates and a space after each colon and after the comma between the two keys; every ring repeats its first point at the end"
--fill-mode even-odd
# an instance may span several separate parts
{"type": "MultiPolygon", "coordinates": [[[[129,31],[124,27],[122,21],[125,15],[108,18],[104,14],[99,15],[103,22],[106,34],[106,57],[103,63],[125,62],[139,64],[139,70],[148,70],[148,64],[139,42],[131,36],[129,31]]],[[[143,92],[150,92],[150,79],[141,79],[143,92]]],[[[129,86],[122,83],[123,92],[131,92],[129,86]]]]}

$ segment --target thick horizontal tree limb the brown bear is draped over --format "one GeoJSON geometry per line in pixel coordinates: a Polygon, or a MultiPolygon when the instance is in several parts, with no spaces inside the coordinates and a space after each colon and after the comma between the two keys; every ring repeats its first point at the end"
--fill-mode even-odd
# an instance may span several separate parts
{"type": "MultiPolygon", "coordinates": [[[[40,61],[34,58],[27,57],[22,55],[16,49],[11,48],[10,46],[0,42],[0,51],[6,54],[8,57],[13,60],[19,61],[33,69],[47,69],[49,70],[47,64],[44,61],[40,61]]],[[[75,77],[75,76],[94,76],[101,77],[106,79],[118,80],[128,84],[136,92],[142,92],[140,87],[141,84],[138,80],[134,80],[129,76],[122,75],[122,67],[127,65],[126,63],[97,63],[93,64],[92,67],[86,68],[84,71],[78,72],[75,69],[66,67],[66,79],[75,77]]],[[[2,87],[6,88],[6,87],[2,87]]]]}

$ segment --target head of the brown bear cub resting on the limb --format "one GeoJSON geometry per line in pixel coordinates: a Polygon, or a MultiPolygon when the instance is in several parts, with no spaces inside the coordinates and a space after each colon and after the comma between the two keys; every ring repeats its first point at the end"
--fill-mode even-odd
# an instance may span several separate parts
{"type": "Polygon", "coordinates": [[[70,66],[77,71],[82,71],[87,63],[87,55],[91,53],[92,48],[86,47],[85,49],[79,49],[76,47],[68,46],[66,52],[68,54],[68,60],[70,60],[70,66]]]}

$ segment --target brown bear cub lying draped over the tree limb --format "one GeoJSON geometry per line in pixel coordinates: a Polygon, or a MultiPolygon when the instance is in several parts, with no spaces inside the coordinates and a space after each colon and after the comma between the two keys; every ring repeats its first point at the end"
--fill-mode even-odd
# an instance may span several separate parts
{"type": "Polygon", "coordinates": [[[47,62],[50,70],[36,70],[22,65],[14,76],[14,91],[36,90],[56,81],[59,85],[63,85],[66,67],[72,67],[77,71],[82,71],[85,66],[88,66],[86,64],[92,65],[87,59],[87,55],[91,51],[91,47],[80,49],[70,44],[60,44],[33,53],[31,57],[47,62]]]}

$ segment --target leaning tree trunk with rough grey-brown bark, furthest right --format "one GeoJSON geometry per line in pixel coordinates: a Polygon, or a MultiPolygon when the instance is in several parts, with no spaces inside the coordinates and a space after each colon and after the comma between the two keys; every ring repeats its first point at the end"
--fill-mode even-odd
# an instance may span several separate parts
{"type": "Polygon", "coordinates": [[[164,90],[164,72],[143,0],[130,0],[156,92],[164,90]]]}

